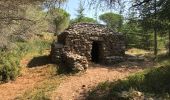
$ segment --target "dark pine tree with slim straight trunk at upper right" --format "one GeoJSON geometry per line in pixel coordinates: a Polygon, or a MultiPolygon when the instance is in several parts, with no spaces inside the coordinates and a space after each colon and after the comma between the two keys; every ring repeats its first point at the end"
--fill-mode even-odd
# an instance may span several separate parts
{"type": "Polygon", "coordinates": [[[170,14],[167,13],[169,11],[169,3],[169,0],[135,0],[133,3],[133,7],[140,8],[138,12],[141,15],[141,18],[143,21],[147,22],[148,28],[154,33],[155,56],[158,52],[158,33],[165,32],[165,27],[168,26],[165,24],[169,21],[168,16],[170,14]]]}

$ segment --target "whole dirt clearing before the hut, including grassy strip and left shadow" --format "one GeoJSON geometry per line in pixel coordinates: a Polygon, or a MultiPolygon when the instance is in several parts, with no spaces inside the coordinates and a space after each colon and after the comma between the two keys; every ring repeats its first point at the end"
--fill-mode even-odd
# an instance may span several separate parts
{"type": "MultiPolygon", "coordinates": [[[[32,54],[33,55],[33,54],[32,54]]],[[[123,79],[153,66],[153,62],[123,62],[114,66],[90,64],[83,73],[57,75],[48,56],[26,56],[21,61],[22,73],[15,81],[0,85],[3,100],[83,100],[99,83],[123,79]]]]}

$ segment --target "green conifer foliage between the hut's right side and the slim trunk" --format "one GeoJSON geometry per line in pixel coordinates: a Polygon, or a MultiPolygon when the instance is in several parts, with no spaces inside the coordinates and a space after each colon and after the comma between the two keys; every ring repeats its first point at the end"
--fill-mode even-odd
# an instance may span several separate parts
{"type": "Polygon", "coordinates": [[[152,43],[152,35],[141,26],[140,21],[130,19],[123,24],[122,33],[126,36],[127,47],[136,47],[149,50],[152,43]]]}

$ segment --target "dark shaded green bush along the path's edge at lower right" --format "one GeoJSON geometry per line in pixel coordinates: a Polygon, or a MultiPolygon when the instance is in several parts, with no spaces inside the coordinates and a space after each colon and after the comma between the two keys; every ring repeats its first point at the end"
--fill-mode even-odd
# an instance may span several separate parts
{"type": "Polygon", "coordinates": [[[170,93],[169,71],[170,65],[167,65],[129,76],[127,80],[112,83],[110,97],[118,96],[122,91],[130,91],[131,89],[158,95],[170,93]]]}

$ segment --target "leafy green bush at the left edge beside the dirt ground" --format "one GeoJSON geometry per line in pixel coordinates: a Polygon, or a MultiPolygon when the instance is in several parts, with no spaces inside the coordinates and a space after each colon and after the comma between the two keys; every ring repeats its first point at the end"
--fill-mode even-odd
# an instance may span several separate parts
{"type": "Polygon", "coordinates": [[[0,58],[0,81],[14,80],[19,74],[20,54],[14,52],[1,52],[0,58]]]}

